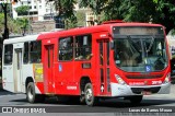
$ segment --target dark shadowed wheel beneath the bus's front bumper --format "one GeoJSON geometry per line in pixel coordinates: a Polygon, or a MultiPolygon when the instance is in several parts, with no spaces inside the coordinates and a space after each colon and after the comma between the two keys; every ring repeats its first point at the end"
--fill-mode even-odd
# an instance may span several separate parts
{"type": "Polygon", "coordinates": [[[142,98],[143,95],[136,95],[136,96],[130,96],[129,101],[131,102],[131,104],[138,105],[142,101],[142,98]]]}

